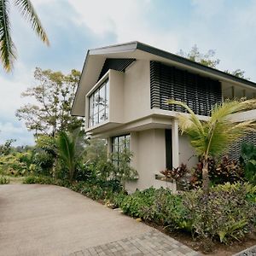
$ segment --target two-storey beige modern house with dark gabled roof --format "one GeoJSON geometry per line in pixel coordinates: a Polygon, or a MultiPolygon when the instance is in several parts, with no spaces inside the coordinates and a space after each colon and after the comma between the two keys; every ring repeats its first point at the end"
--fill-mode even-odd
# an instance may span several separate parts
{"type": "MultiPolygon", "coordinates": [[[[120,150],[125,141],[139,174],[127,188],[145,189],[166,186],[155,178],[161,170],[197,162],[188,138],[178,132],[177,113],[183,108],[166,100],[186,102],[207,119],[216,102],[255,95],[251,81],[131,42],[88,50],[72,114],[85,117],[86,132],[92,137],[108,139],[109,152],[120,150]]],[[[252,111],[235,118],[255,116],[252,111]]]]}

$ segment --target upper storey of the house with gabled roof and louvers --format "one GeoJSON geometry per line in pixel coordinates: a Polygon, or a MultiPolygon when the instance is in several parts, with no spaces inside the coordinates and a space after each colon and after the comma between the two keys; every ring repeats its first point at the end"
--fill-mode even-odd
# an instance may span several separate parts
{"type": "Polygon", "coordinates": [[[102,132],[149,117],[173,117],[185,102],[204,119],[216,102],[253,98],[256,84],[146,44],[132,42],[88,51],[73,114],[86,131],[102,132]]]}

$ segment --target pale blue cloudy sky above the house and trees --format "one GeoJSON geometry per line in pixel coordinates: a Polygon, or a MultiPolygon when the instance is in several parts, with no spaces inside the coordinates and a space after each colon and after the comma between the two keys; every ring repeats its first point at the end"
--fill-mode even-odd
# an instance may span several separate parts
{"type": "MultiPolygon", "coordinates": [[[[15,1],[10,1],[15,2],[15,1]]],[[[15,6],[10,8],[12,38],[18,59],[12,73],[0,66],[0,144],[32,145],[32,132],[15,111],[32,99],[22,98],[36,84],[35,67],[69,73],[81,71],[87,49],[140,41],[177,53],[197,44],[216,51],[218,69],[246,72],[256,81],[256,1],[254,0],[31,0],[50,47],[32,32],[15,6]]]]}

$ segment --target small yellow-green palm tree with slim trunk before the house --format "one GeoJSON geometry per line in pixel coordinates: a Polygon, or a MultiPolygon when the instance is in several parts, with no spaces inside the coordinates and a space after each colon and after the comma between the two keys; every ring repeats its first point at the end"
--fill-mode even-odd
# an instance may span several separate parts
{"type": "Polygon", "coordinates": [[[181,133],[188,135],[195,152],[203,160],[202,186],[204,192],[209,192],[208,165],[209,158],[221,154],[229,148],[236,139],[246,136],[250,131],[256,131],[255,120],[234,121],[233,113],[241,113],[256,108],[256,99],[226,100],[217,103],[211,110],[207,120],[200,120],[198,116],[183,102],[169,100],[169,104],[179,105],[188,113],[178,115],[181,133]]]}

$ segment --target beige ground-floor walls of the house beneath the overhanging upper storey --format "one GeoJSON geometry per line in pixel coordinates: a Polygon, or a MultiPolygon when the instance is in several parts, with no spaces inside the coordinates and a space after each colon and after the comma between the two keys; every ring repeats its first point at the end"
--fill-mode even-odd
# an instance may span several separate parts
{"type": "Polygon", "coordinates": [[[138,179],[127,183],[126,189],[131,192],[151,186],[176,191],[176,183],[160,180],[160,171],[172,170],[182,163],[191,168],[198,162],[188,137],[178,132],[177,119],[165,128],[125,131],[108,137],[108,152],[121,151],[124,147],[130,148],[131,166],[138,172],[138,179]]]}

